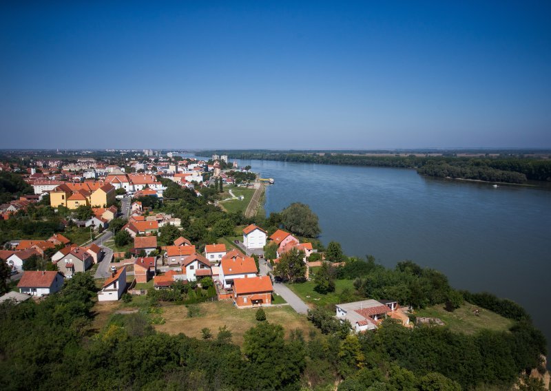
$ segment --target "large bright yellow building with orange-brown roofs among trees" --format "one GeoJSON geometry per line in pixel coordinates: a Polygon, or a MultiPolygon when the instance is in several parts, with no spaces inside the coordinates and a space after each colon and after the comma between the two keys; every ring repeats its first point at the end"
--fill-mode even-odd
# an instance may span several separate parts
{"type": "Polygon", "coordinates": [[[82,205],[109,207],[115,202],[115,188],[103,182],[64,183],[50,191],[50,206],[76,209],[82,205]]]}

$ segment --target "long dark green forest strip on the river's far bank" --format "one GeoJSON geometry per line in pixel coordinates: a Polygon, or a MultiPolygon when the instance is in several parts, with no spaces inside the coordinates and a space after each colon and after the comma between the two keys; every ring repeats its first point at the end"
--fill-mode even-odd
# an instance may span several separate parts
{"type": "MultiPolygon", "coordinates": [[[[205,152],[207,153],[207,152],[205,152]]],[[[537,158],[461,158],[455,156],[366,156],[360,154],[228,153],[229,158],[278,160],[322,165],[355,165],[417,169],[426,176],[464,178],[489,182],[551,181],[551,160],[537,158]]]]}

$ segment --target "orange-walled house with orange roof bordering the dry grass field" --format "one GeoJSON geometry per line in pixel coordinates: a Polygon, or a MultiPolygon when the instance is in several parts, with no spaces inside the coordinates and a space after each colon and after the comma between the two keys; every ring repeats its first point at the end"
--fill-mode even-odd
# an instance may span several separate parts
{"type": "Polygon", "coordinates": [[[233,281],[233,301],[240,308],[271,305],[273,286],[267,275],[233,281]]]}

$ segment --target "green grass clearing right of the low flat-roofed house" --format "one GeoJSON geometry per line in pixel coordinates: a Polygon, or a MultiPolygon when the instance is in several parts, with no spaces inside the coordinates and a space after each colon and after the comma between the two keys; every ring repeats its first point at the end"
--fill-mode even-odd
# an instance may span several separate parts
{"type": "Polygon", "coordinates": [[[424,308],[423,310],[416,310],[415,316],[437,317],[441,319],[441,321],[444,321],[446,326],[449,326],[451,330],[464,332],[466,334],[474,334],[484,328],[497,331],[508,330],[513,324],[511,319],[492,313],[492,311],[485,310],[484,308],[473,306],[467,302],[453,311],[453,313],[446,311],[444,307],[440,305],[424,308]],[[479,316],[473,313],[476,308],[479,310],[479,316]]]}

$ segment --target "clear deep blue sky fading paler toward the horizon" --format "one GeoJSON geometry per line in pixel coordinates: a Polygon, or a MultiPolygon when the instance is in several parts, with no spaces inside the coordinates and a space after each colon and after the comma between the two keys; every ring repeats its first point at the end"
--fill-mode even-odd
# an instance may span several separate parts
{"type": "Polygon", "coordinates": [[[550,21],[550,1],[1,1],[0,148],[549,148],[550,21]]]}

